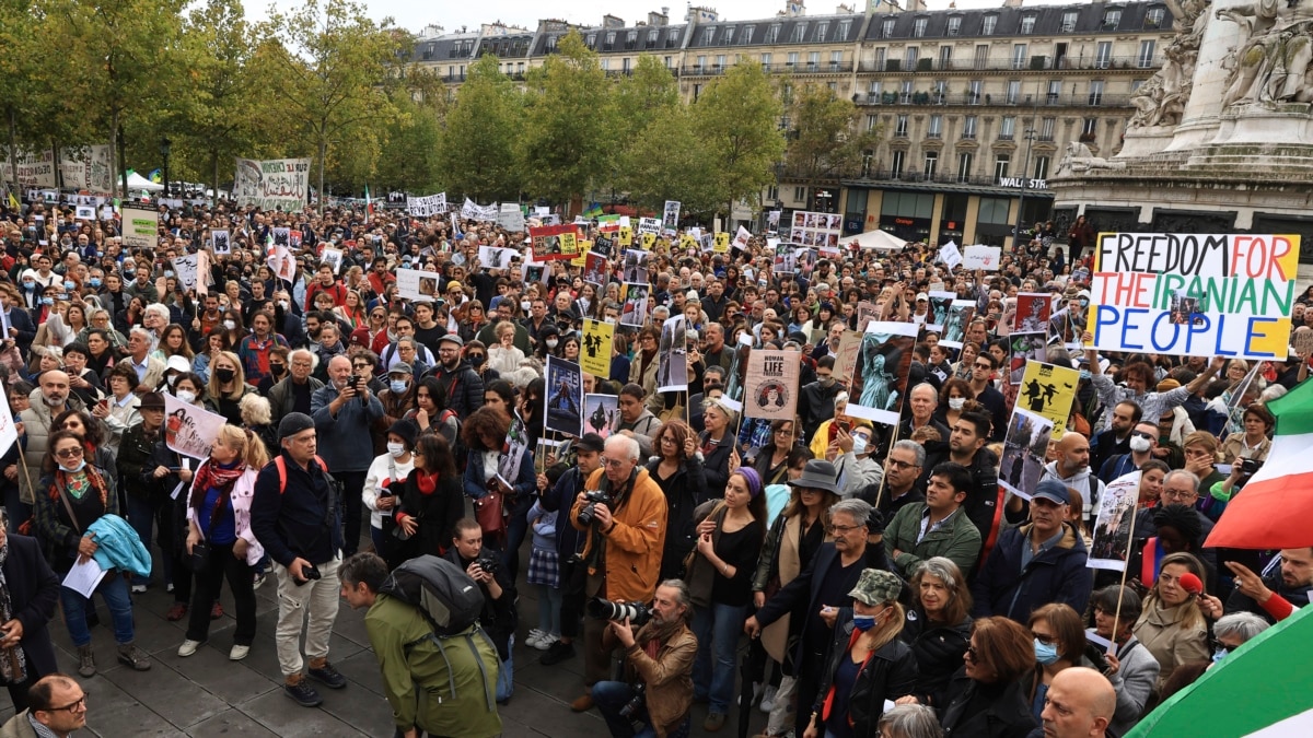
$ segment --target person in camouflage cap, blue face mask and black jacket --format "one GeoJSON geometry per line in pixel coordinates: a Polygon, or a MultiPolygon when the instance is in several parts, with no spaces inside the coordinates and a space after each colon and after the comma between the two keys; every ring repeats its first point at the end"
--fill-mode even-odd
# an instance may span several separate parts
{"type": "Polygon", "coordinates": [[[804,738],[874,735],[885,703],[911,695],[916,658],[898,640],[905,622],[901,592],[898,576],[878,569],[861,571],[848,592],[852,608],[840,608],[835,619],[834,642],[804,738]]]}

